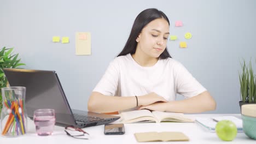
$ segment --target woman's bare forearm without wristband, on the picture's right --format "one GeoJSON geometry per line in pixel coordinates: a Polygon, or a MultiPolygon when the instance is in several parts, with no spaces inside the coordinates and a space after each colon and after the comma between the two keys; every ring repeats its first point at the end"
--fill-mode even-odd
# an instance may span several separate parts
{"type": "Polygon", "coordinates": [[[216,109],[216,101],[207,91],[189,99],[169,101],[162,105],[165,105],[166,111],[182,113],[199,113],[216,109]]]}

